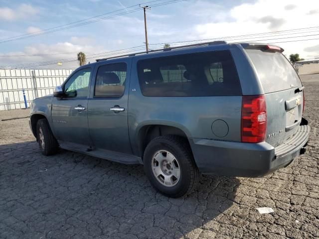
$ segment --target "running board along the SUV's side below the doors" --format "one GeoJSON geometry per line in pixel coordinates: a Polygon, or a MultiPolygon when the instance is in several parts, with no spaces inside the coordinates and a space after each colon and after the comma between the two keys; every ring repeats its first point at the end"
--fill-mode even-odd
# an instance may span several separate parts
{"type": "Polygon", "coordinates": [[[99,149],[99,148],[91,148],[86,145],[77,144],[77,143],[70,143],[58,140],[58,143],[61,148],[83,153],[86,155],[90,155],[97,158],[103,158],[107,160],[111,160],[118,163],[124,164],[142,164],[141,157],[127,154],[127,153],[120,153],[111,150],[99,149]]]}

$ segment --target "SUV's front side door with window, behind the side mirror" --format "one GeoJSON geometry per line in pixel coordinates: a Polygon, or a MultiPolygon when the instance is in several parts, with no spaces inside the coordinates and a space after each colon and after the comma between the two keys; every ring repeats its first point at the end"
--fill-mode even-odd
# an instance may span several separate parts
{"type": "Polygon", "coordinates": [[[57,140],[89,147],[87,105],[91,68],[74,72],[63,84],[65,96],[53,97],[52,124],[57,140]]]}

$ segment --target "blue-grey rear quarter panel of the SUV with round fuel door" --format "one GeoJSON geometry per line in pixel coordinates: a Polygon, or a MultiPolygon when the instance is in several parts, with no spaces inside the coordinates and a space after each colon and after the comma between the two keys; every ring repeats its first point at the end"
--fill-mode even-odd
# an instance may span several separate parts
{"type": "MultiPolygon", "coordinates": [[[[137,61],[132,62],[129,91],[129,133],[134,154],[139,155],[138,135],[144,125],[174,126],[188,138],[240,141],[241,96],[214,97],[145,97],[137,73],[137,61]],[[228,124],[228,133],[217,137],[212,123],[222,119],[228,124]]],[[[140,155],[142,156],[142,155],[140,155]]]]}

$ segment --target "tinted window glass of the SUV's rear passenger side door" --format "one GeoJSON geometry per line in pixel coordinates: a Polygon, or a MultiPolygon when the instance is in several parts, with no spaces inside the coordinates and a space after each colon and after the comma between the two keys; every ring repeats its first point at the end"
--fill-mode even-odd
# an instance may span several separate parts
{"type": "Polygon", "coordinates": [[[95,96],[121,97],[125,90],[127,66],[116,63],[100,66],[95,81],[95,96]]]}

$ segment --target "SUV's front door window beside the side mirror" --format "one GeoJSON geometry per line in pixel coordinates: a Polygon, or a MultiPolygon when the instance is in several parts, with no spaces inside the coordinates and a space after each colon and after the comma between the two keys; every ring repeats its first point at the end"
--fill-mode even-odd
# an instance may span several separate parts
{"type": "Polygon", "coordinates": [[[66,97],[88,97],[91,68],[75,72],[64,85],[66,97]]]}

